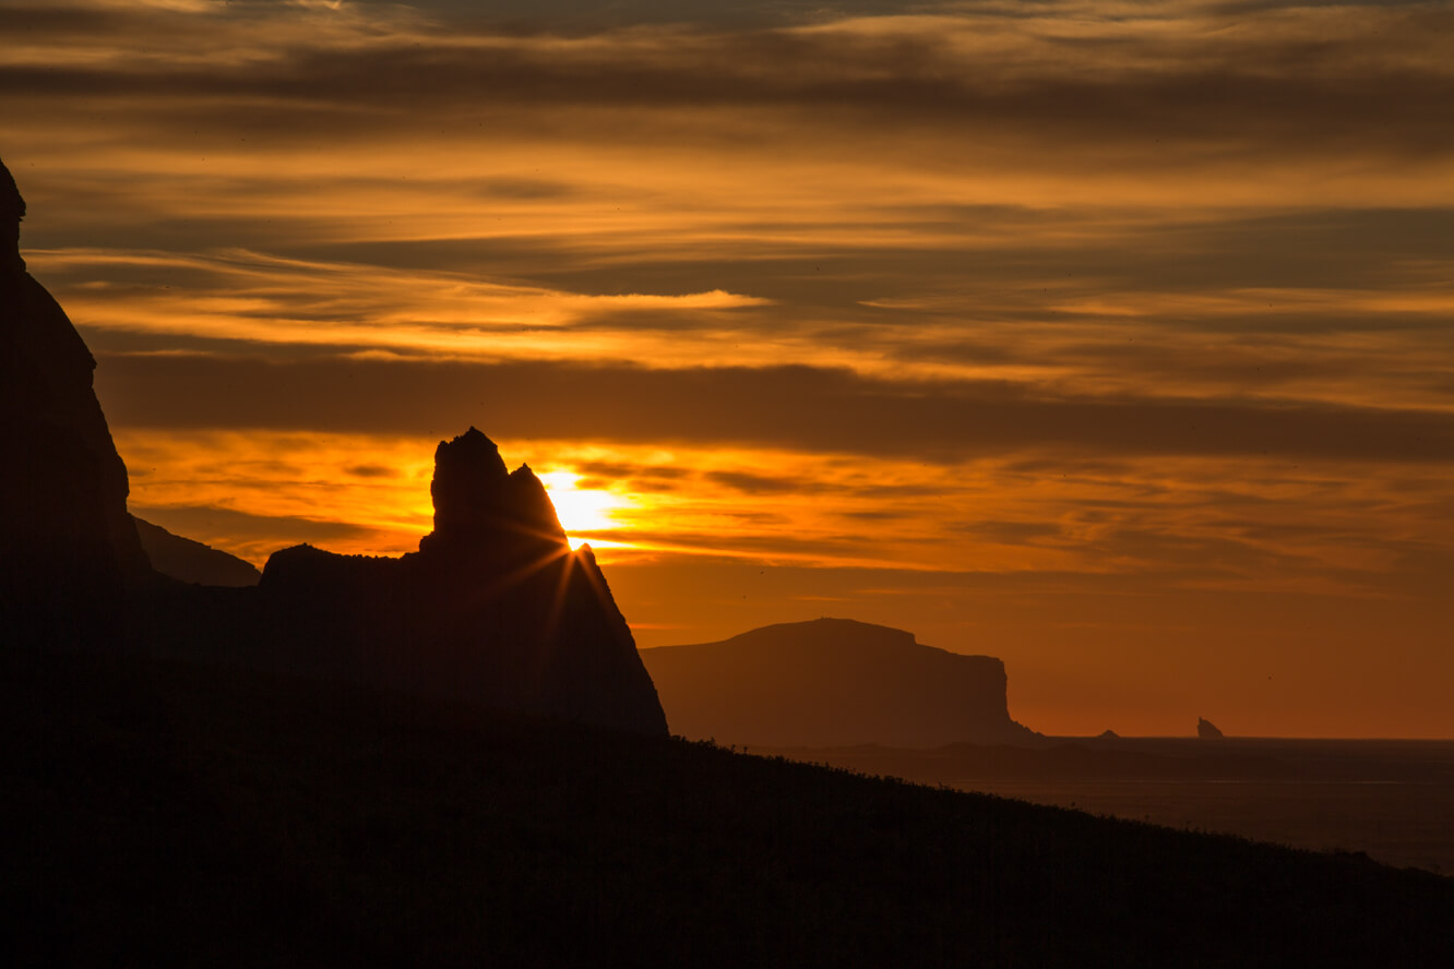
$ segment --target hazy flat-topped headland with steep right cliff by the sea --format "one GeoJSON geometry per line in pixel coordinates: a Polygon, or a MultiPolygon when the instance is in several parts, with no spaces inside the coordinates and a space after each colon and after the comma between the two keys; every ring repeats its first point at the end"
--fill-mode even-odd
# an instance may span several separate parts
{"type": "Polygon", "coordinates": [[[910,632],[814,619],[723,642],[643,649],[672,729],[718,744],[938,747],[1029,742],[1005,664],[910,632]]]}

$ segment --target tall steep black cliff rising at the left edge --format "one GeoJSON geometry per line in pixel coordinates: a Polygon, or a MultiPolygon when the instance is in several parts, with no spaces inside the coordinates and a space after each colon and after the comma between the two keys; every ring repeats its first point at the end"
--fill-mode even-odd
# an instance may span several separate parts
{"type": "Polygon", "coordinates": [[[96,362],[26,272],[23,216],[0,164],[0,639],[86,646],[132,635],[128,600],[151,567],[92,389],[96,362]]]}

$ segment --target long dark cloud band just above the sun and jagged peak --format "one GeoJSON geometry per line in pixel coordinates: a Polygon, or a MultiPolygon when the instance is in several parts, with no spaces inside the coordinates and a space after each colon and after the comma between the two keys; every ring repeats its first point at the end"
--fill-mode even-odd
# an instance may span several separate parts
{"type": "Polygon", "coordinates": [[[1439,410],[1054,398],[1008,382],[894,382],[810,366],[111,356],[100,362],[97,386],[112,421],[132,427],[433,436],[474,421],[512,437],[721,442],[929,461],[1047,449],[1111,458],[1454,461],[1454,415],[1439,410]]]}

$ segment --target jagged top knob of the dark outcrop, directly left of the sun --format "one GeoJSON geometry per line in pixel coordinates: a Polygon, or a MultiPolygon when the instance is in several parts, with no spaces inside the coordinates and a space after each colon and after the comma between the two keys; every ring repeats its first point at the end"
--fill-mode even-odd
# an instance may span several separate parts
{"type": "Polygon", "coordinates": [[[500,449],[471,427],[435,449],[435,530],[420,551],[499,545],[564,545],[555,506],[529,465],[506,471],[500,449]]]}

